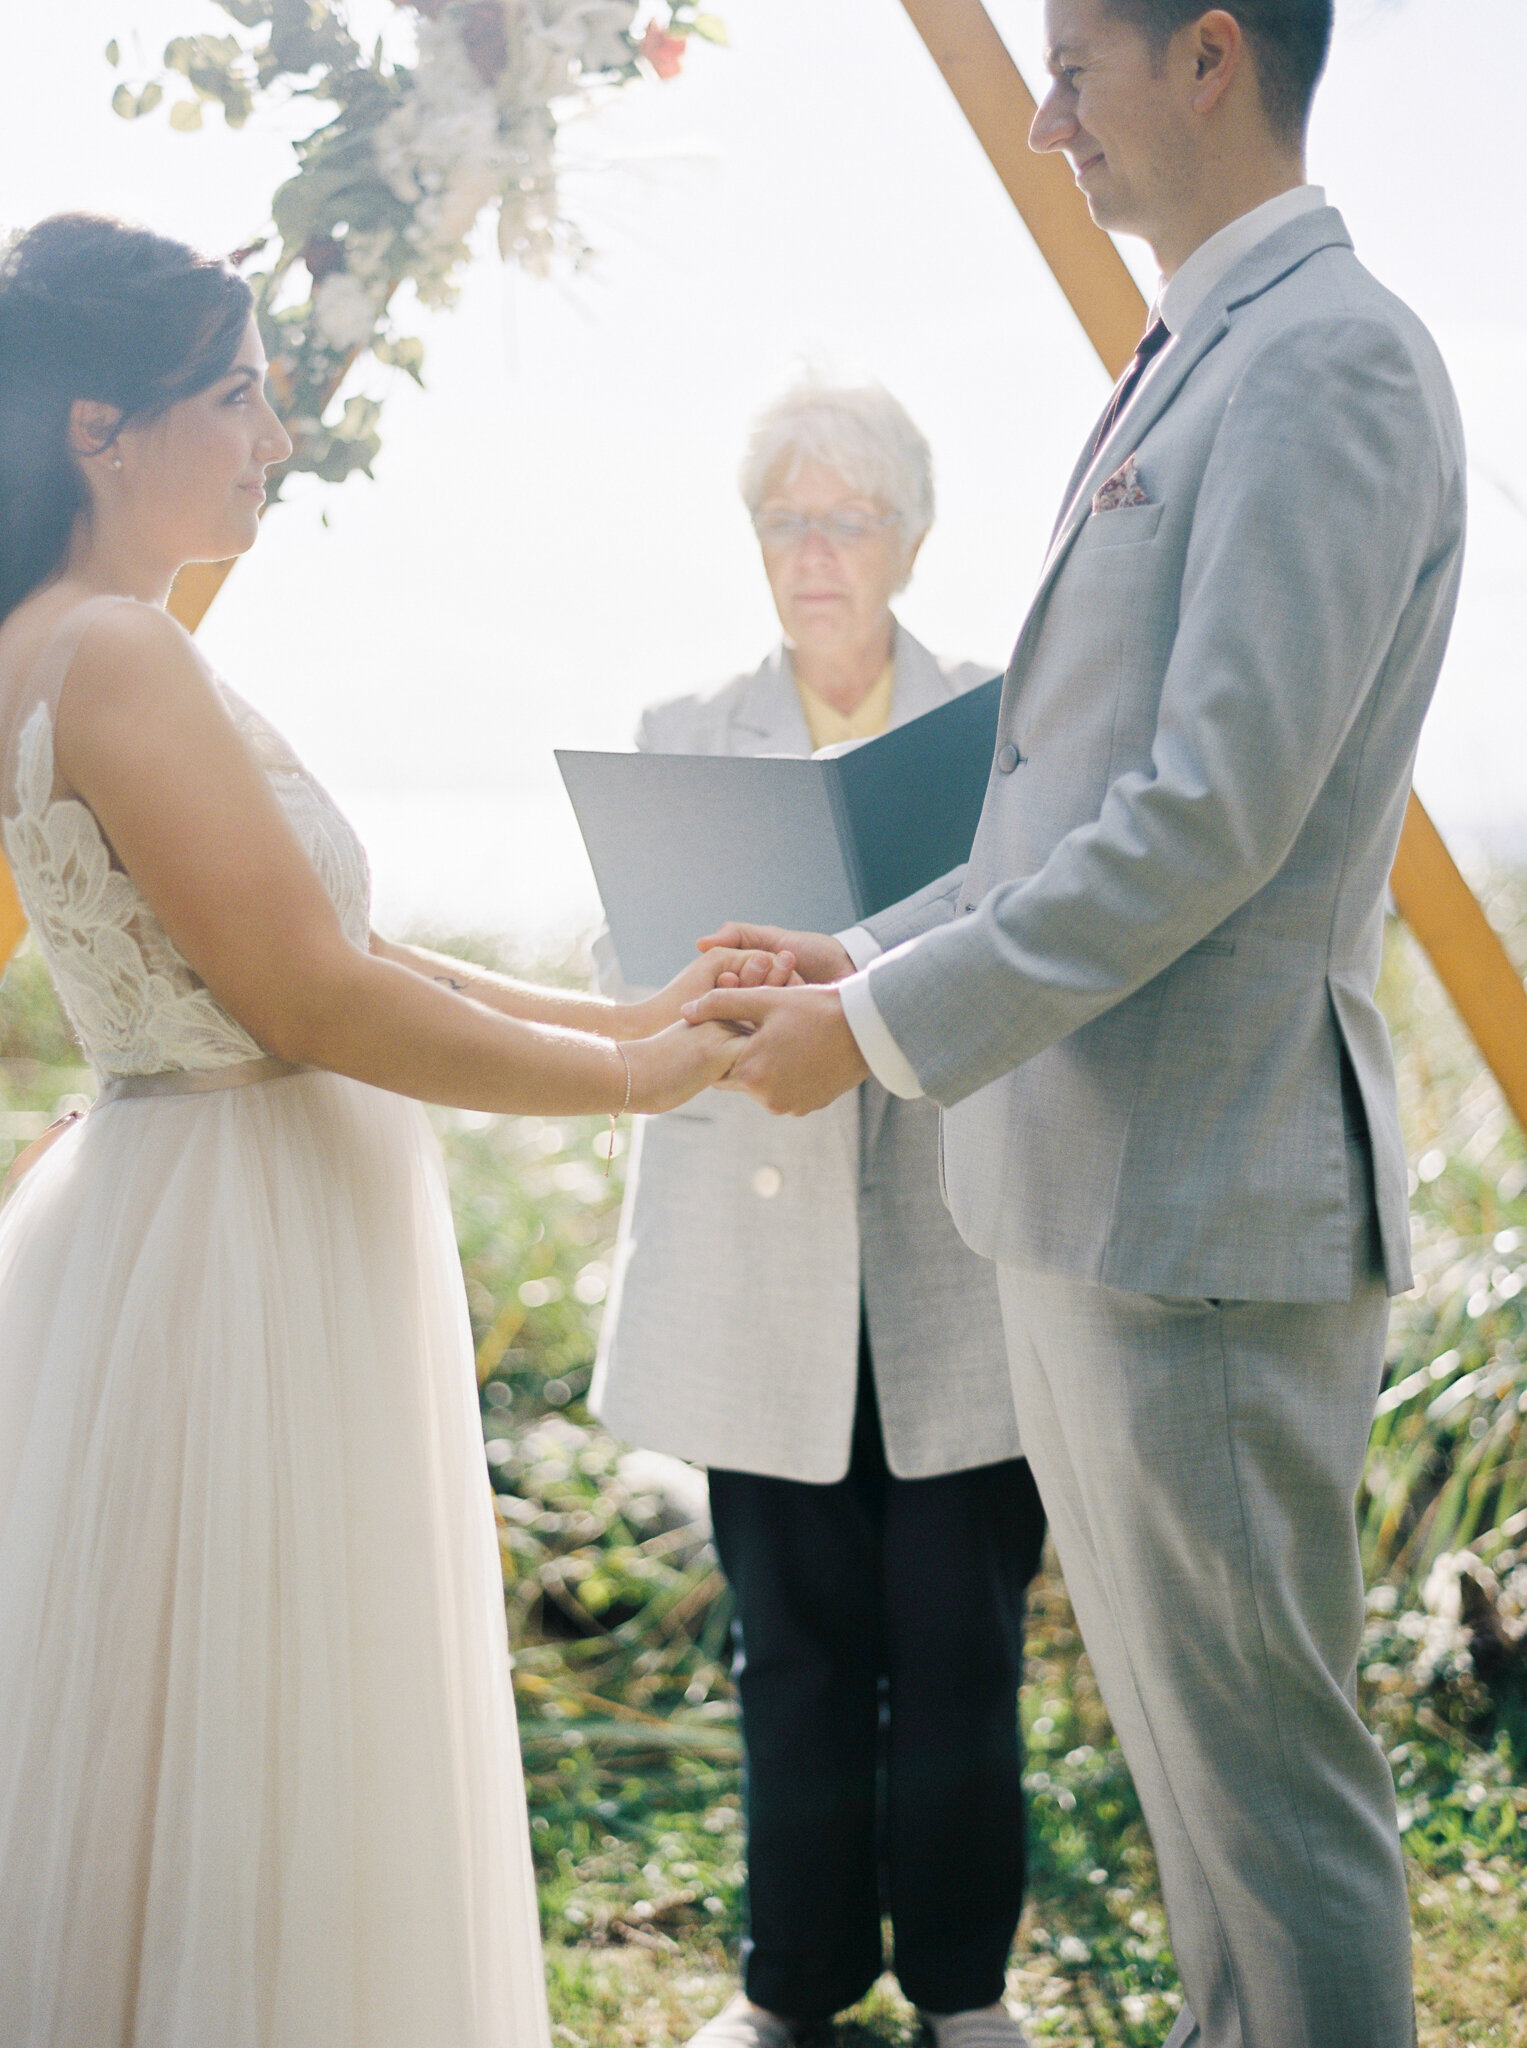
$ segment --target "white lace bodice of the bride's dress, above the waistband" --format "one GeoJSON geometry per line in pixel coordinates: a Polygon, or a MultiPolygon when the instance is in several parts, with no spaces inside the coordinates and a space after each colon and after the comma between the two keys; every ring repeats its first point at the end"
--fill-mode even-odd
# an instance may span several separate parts
{"type": "MultiPolygon", "coordinates": [[[[225,684],[217,688],[334,899],[346,936],[366,946],[370,874],[360,840],[274,727],[225,684]]],[[[88,805],[53,793],[47,696],[23,715],[14,764],[6,856],[59,999],[96,1071],[102,1077],[207,1071],[258,1059],[264,1049],[213,999],[131,877],[113,866],[88,805]]]]}

